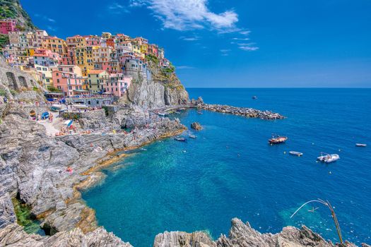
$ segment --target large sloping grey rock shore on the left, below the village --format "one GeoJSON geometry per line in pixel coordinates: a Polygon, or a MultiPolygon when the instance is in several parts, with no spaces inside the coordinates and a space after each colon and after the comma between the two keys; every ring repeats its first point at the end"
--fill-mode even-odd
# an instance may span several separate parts
{"type": "MultiPolygon", "coordinates": [[[[0,124],[0,188],[3,191],[0,193],[0,224],[15,222],[8,194],[18,194],[20,200],[31,207],[31,212],[42,218],[42,226],[52,234],[76,226],[83,231],[95,229],[94,213],[79,200],[74,187],[90,179],[84,173],[101,160],[109,159],[107,154],[137,147],[185,128],[179,121],[158,117],[141,128],[145,121],[141,119],[143,114],[132,110],[134,116],[126,117],[134,119],[134,124],[138,121],[139,125],[131,133],[102,134],[103,128],[89,135],[49,138],[45,127],[28,120],[28,115],[16,104],[8,106],[10,109],[0,124]],[[69,174],[66,167],[72,167],[73,173],[69,174]]],[[[119,126],[109,119],[100,119],[102,114],[103,111],[91,113],[85,121],[88,125],[102,121],[105,126],[119,126]]],[[[98,178],[95,174],[91,176],[98,178]]],[[[93,183],[92,179],[89,181],[93,183]]]]}

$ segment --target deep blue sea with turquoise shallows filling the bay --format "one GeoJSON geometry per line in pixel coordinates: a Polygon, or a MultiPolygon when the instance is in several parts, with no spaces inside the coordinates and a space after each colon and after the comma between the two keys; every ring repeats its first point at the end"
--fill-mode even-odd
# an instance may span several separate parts
{"type": "Polygon", "coordinates": [[[371,243],[370,89],[189,89],[207,103],[269,109],[287,119],[264,121],[189,110],[176,115],[197,139],[146,145],[104,170],[103,183],[83,193],[98,223],[137,247],[152,246],[163,231],[205,230],[217,239],[239,217],[261,232],[302,224],[338,241],[329,200],[343,239],[371,243]],[[257,95],[257,100],[252,100],[257,95]],[[271,133],[287,135],[270,146],[271,133]],[[367,143],[367,147],[355,147],[367,143]],[[302,157],[288,151],[303,152],[302,157]],[[332,164],[320,152],[337,153],[332,164]],[[319,207],[314,212],[312,208],[319,207]]]}

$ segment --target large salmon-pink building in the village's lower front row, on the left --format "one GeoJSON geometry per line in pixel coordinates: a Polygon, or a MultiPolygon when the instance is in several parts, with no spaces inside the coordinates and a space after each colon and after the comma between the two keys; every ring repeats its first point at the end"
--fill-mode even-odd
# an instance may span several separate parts
{"type": "Polygon", "coordinates": [[[64,95],[88,95],[89,91],[84,90],[86,78],[81,74],[81,68],[76,65],[59,65],[52,68],[54,88],[64,92],[64,95]]]}

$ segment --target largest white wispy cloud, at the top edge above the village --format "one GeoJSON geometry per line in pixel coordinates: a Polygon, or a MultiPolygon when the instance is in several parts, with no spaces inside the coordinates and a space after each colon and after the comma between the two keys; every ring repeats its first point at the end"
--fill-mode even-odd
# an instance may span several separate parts
{"type": "Polygon", "coordinates": [[[164,28],[194,30],[210,28],[220,32],[235,31],[235,11],[213,13],[207,0],[131,0],[130,6],[147,6],[163,22],[164,28]]]}

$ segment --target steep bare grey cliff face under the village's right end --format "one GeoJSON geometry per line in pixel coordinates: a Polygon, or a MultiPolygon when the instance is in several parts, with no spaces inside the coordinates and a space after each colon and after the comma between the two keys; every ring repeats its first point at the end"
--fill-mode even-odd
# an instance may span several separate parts
{"type": "Polygon", "coordinates": [[[167,105],[187,104],[188,92],[184,89],[175,69],[164,69],[155,59],[148,59],[148,71],[129,72],[133,82],[121,102],[153,109],[167,105]]]}

